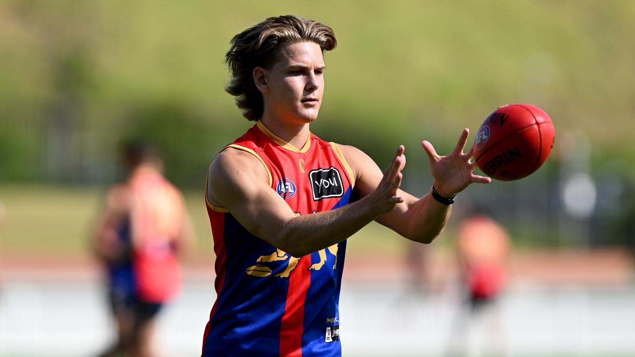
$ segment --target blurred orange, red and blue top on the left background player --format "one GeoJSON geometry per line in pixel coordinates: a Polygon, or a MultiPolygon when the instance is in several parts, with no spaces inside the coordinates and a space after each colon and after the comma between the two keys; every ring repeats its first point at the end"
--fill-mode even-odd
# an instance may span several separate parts
{"type": "Polygon", "coordinates": [[[185,219],[185,203],[161,173],[139,168],[126,182],[131,207],[117,239],[125,252],[109,262],[110,289],[117,300],[162,303],[181,287],[175,246],[185,219]]]}

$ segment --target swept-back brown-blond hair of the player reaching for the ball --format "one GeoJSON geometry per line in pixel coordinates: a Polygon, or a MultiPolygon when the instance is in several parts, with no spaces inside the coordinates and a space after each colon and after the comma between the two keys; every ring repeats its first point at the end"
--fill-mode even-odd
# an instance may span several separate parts
{"type": "Polygon", "coordinates": [[[270,69],[276,63],[281,45],[304,41],[318,44],[322,51],[337,46],[333,29],[293,15],[267,18],[232,38],[231,48],[225,55],[231,72],[225,91],[236,97],[236,105],[245,118],[258,121],[264,109],[262,93],[253,82],[253,69],[270,69]]]}

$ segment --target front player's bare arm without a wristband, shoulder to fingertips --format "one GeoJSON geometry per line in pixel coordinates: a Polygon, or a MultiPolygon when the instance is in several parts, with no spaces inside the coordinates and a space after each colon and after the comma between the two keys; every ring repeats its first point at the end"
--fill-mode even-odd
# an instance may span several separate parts
{"type": "Polygon", "coordinates": [[[253,155],[225,149],[210,166],[208,199],[224,206],[251,234],[295,257],[344,241],[402,201],[401,156],[396,156],[373,192],[337,210],[296,216],[269,186],[264,166],[253,155]]]}

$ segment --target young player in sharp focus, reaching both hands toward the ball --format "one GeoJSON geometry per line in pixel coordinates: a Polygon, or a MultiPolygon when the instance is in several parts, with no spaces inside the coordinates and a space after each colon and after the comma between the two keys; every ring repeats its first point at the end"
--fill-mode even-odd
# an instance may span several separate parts
{"type": "Polygon", "coordinates": [[[330,27],[294,16],[267,18],[231,41],[227,91],[257,123],[208,173],[218,297],[203,356],[340,356],[346,239],[377,220],[429,243],[450,216],[451,198],[490,181],[472,174],[472,152],[462,152],[467,129],[449,156],[422,143],[436,191],[421,199],[399,189],[402,145],[382,175],[355,147],[313,135],[323,51],[336,43],[330,27]]]}

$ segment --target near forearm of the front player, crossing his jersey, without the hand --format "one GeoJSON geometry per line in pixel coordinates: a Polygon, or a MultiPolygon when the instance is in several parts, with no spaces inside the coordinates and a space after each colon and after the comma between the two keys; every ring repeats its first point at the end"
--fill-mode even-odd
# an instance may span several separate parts
{"type": "Polygon", "coordinates": [[[327,212],[294,217],[284,223],[277,234],[280,248],[294,257],[318,252],[340,243],[377,217],[370,198],[327,212]]]}

